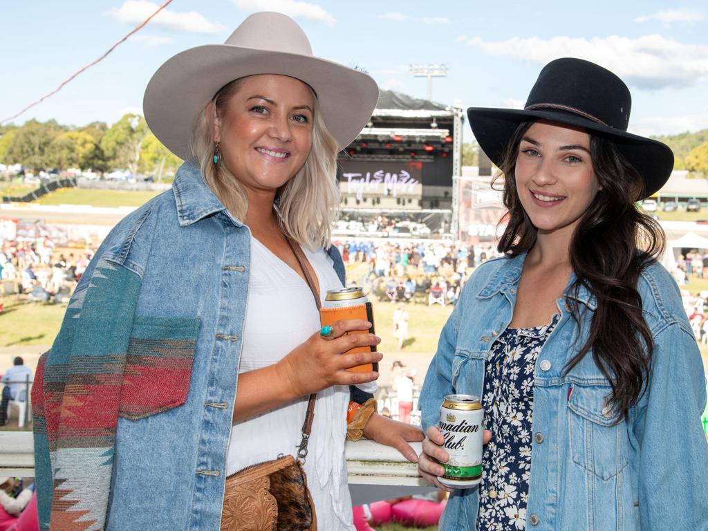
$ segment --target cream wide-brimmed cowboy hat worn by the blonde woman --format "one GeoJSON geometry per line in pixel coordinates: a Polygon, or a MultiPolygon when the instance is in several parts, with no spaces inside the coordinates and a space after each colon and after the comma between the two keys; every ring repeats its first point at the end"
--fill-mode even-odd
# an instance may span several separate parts
{"type": "Polygon", "coordinates": [[[171,152],[188,159],[193,126],[207,103],[230,81],[256,74],[290,76],[311,86],[339,149],[357,137],[379,97],[367,74],[314,57],[292,18],[253,13],[224,44],[190,48],[157,69],[143,99],[147,125],[171,152]]]}

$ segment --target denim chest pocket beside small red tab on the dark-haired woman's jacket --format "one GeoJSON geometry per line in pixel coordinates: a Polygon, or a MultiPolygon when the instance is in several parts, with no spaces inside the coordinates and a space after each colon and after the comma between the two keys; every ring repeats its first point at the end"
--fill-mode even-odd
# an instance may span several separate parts
{"type": "Polygon", "coordinates": [[[615,424],[607,406],[610,386],[576,385],[568,399],[573,462],[600,479],[610,479],[627,466],[624,423],[615,424]]]}

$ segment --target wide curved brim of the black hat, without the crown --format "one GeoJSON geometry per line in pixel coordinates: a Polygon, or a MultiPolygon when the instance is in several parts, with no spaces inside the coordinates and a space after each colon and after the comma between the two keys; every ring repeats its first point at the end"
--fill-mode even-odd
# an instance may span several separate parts
{"type": "Polygon", "coordinates": [[[658,192],[673,171],[673,152],[666,144],[598,124],[571,112],[470,107],[467,109],[467,118],[479,147],[497,166],[501,166],[504,149],[521,122],[549,120],[583,127],[595,135],[612,140],[644,179],[644,198],[658,192]]]}

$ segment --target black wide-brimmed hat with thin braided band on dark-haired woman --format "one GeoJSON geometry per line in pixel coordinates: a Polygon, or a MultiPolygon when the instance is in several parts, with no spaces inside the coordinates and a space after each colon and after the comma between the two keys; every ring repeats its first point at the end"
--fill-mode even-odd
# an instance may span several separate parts
{"type": "Polygon", "coordinates": [[[566,57],[542,69],[523,110],[471,107],[467,117],[479,147],[497,166],[525,120],[551,120],[606,137],[644,179],[646,198],[668,181],[673,152],[666,144],[627,132],[631,108],[632,96],[622,79],[597,64],[566,57]]]}

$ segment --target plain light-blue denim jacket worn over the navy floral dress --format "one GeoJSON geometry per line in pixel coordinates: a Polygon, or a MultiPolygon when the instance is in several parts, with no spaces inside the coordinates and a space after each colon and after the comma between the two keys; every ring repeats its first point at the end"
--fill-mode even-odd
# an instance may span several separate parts
{"type": "MultiPolygon", "coordinates": [[[[524,260],[484,263],[464,286],[423,384],[425,429],[438,423],[446,394],[481,396],[484,362],[511,321],[524,260]]],[[[649,265],[638,289],[654,341],[651,380],[629,420],[617,425],[605,401],[610,384],[591,353],[564,375],[585,343],[595,299],[583,289],[557,302],[561,317],[534,372],[527,530],[708,530],[701,356],[666,270],[649,265]],[[571,298],[581,310],[579,335],[571,298]]],[[[474,529],[478,506],[477,489],[456,490],[440,530],[474,529]]]]}

